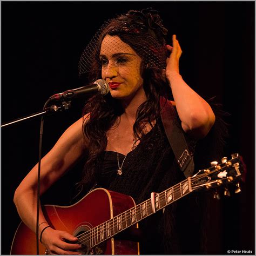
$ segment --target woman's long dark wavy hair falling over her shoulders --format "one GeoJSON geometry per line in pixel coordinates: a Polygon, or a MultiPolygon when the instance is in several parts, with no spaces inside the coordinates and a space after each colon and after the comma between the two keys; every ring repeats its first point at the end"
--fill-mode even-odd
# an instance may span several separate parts
{"type": "MultiPolygon", "coordinates": [[[[86,73],[91,81],[101,78],[99,52],[106,35],[118,36],[142,58],[140,73],[144,80],[143,88],[146,101],[139,106],[133,125],[136,140],[143,137],[145,123],[153,126],[152,121],[160,117],[160,96],[172,97],[163,71],[167,57],[164,39],[166,32],[157,11],[152,9],[130,10],[127,14],[112,19],[101,30],[97,45],[93,50],[94,58],[91,62],[90,72],[86,73]]],[[[80,60],[80,63],[81,61],[83,60],[80,60]]],[[[80,73],[83,73],[80,63],[80,73]]],[[[83,114],[89,113],[90,116],[90,118],[84,119],[83,126],[85,136],[89,139],[89,147],[83,178],[79,185],[95,183],[99,156],[107,146],[106,132],[116,123],[123,111],[119,100],[112,98],[110,93],[106,96],[93,96],[84,106],[83,114]]]]}

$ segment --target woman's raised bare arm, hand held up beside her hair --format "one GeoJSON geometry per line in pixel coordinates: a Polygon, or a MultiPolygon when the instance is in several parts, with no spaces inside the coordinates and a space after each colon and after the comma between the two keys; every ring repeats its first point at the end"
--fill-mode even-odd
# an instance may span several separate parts
{"type": "Polygon", "coordinates": [[[188,86],[179,74],[179,58],[181,48],[176,35],[172,37],[173,47],[167,45],[171,51],[167,58],[166,78],[171,85],[177,112],[183,130],[193,138],[204,138],[215,122],[214,113],[210,105],[188,86]]]}

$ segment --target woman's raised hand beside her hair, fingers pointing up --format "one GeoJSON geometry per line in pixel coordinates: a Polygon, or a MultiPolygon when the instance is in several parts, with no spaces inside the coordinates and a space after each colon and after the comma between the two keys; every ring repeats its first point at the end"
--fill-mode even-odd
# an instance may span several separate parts
{"type": "Polygon", "coordinates": [[[176,35],[172,36],[172,45],[167,44],[166,48],[171,52],[170,57],[166,59],[166,77],[170,78],[172,75],[179,75],[179,58],[182,50],[176,35]]]}

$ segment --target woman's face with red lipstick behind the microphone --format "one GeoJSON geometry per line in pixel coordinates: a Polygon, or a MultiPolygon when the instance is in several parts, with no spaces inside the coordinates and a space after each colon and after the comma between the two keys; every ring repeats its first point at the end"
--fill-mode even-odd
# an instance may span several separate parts
{"type": "Polygon", "coordinates": [[[100,48],[102,78],[109,83],[113,98],[126,99],[143,90],[142,59],[118,36],[106,35],[100,48]]]}

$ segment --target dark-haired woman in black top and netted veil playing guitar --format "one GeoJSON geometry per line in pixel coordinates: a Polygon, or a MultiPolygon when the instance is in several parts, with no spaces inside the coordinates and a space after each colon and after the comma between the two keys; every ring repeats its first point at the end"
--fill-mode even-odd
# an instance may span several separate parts
{"type": "MultiPolygon", "coordinates": [[[[84,116],[42,159],[41,194],[85,154],[81,191],[92,185],[104,187],[129,194],[140,203],[150,192],[163,191],[184,179],[163,130],[159,98],[169,98],[172,93],[172,104],[191,147],[191,142],[211,130],[215,116],[210,105],[180,76],[182,51],[175,35],[172,46],[165,44],[166,32],[157,12],[146,9],[112,19],[92,39],[80,59],[79,72],[92,81],[106,80],[110,94],[92,97],[84,116]]],[[[14,197],[19,215],[34,232],[36,192],[37,165],[14,197]]],[[[142,221],[142,254],[180,252],[173,220],[177,209],[173,204],[164,214],[142,221]]],[[[40,210],[39,236],[50,254],[79,254],[80,245],[72,244],[77,238],[51,227],[45,229],[48,225],[40,210]]]]}

